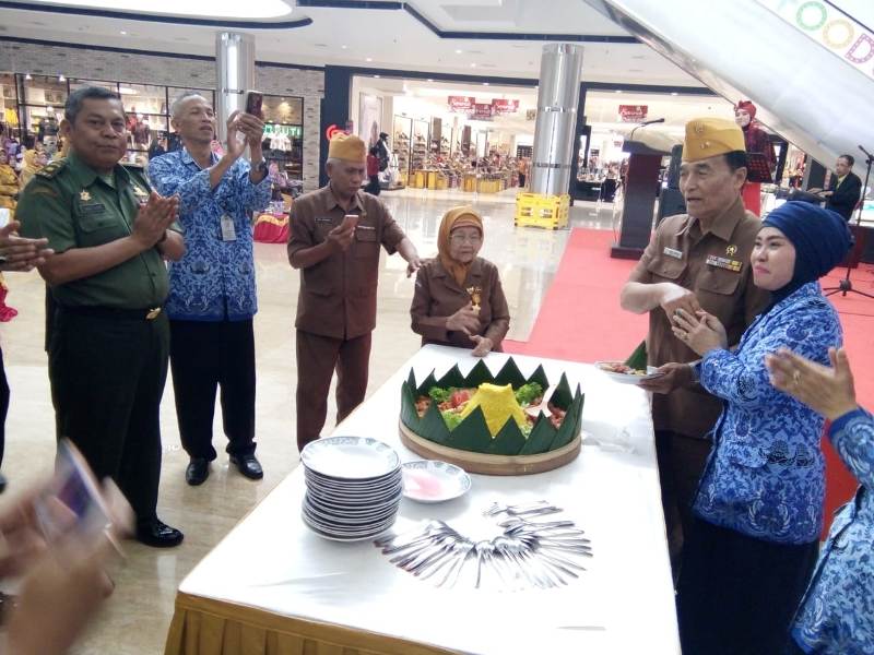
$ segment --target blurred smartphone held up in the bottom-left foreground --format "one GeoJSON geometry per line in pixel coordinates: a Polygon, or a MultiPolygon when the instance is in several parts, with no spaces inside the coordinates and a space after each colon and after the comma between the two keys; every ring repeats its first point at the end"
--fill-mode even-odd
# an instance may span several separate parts
{"type": "Polygon", "coordinates": [[[49,541],[70,531],[96,533],[113,521],[103,500],[97,480],[79,449],[68,439],[58,442],[55,477],[46,492],[35,502],[36,517],[49,541]],[[60,505],[62,507],[58,507],[60,505]],[[59,516],[66,513],[67,516],[59,516]],[[72,514],[72,522],[70,519],[72,514]]]}

